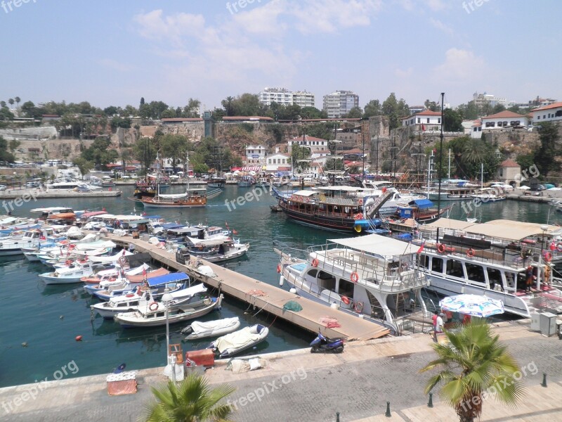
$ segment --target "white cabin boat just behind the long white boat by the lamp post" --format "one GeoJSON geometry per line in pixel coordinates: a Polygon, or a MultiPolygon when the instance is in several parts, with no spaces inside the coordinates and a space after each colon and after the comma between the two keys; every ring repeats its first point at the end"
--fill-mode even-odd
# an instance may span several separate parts
{"type": "MultiPolygon", "coordinates": [[[[171,293],[173,299],[168,303],[168,307],[173,309],[176,306],[185,305],[192,296],[206,291],[207,288],[203,283],[176,290],[171,293]]],[[[150,293],[150,288],[137,286],[131,293],[115,296],[107,302],[96,303],[96,305],[91,305],[90,309],[104,319],[113,319],[114,316],[123,312],[135,312],[138,309],[150,310],[150,304],[155,302],[150,293]]],[[[155,305],[152,305],[152,307],[155,307],[155,305]]]]}

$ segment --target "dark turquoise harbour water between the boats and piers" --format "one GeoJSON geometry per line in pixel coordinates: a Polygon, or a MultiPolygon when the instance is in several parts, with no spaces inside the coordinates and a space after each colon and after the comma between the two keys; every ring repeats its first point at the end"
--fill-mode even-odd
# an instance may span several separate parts
{"type": "MultiPolygon", "coordinates": [[[[171,193],[181,191],[174,186],[171,193]]],[[[237,237],[250,243],[247,257],[228,262],[226,267],[247,276],[277,286],[277,255],[273,241],[288,247],[304,249],[310,245],[325,243],[328,238],[346,237],[330,231],[315,230],[287,221],[285,215],[270,212],[269,205],[275,203],[269,196],[261,196],[245,205],[228,210],[225,200],[235,200],[249,192],[249,188],[227,186],[225,192],[209,201],[206,208],[192,210],[148,209],[149,215],[159,214],[168,221],[189,221],[225,226],[235,229],[237,237]]],[[[41,200],[27,203],[15,210],[14,215],[30,216],[34,207],[70,206],[74,210],[99,210],[131,214],[143,212],[143,207],[126,197],[132,188],[124,188],[124,195],[110,199],[41,200]]],[[[473,213],[474,214],[474,213],[473,213]]],[[[461,207],[453,207],[452,218],[466,218],[461,207]]],[[[473,217],[473,215],[471,215],[473,217]]],[[[554,212],[546,204],[517,203],[504,201],[485,204],[476,210],[476,217],[490,219],[518,219],[543,224],[559,224],[561,213],[554,212]]],[[[351,234],[349,235],[351,236],[351,234]]],[[[41,264],[27,262],[22,258],[0,260],[0,387],[33,383],[35,380],[53,380],[98,373],[109,373],[119,364],[127,369],[143,369],[164,366],[166,361],[166,328],[122,329],[113,321],[100,317],[91,320],[89,306],[96,302],[81,290],[80,284],[68,286],[45,286],[37,276],[48,269],[41,264]],[[83,340],[74,338],[82,335],[83,340]],[[27,347],[22,347],[27,343],[27,347]],[[69,365],[69,363],[71,363],[69,365]],[[64,369],[63,369],[64,368],[64,369]],[[72,370],[72,371],[71,371],[72,370]],[[66,374],[65,374],[66,372],[66,374]],[[73,373],[75,372],[75,373],[73,373]]],[[[273,323],[273,316],[259,313],[259,309],[247,309],[247,305],[231,298],[223,301],[220,314],[211,313],[204,319],[240,316],[242,326],[273,323]]],[[[187,342],[178,331],[187,324],[170,326],[171,343],[182,343],[183,351],[206,347],[207,340],[187,342]]],[[[256,352],[276,352],[306,347],[313,335],[279,319],[270,326],[267,342],[261,343],[256,352]]]]}

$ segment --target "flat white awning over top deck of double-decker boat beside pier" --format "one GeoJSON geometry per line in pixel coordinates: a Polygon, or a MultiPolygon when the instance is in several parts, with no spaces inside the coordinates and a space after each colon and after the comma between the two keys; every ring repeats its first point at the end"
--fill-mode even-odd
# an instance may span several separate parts
{"type": "Polygon", "coordinates": [[[369,234],[346,239],[329,239],[329,242],[359,250],[361,252],[379,255],[380,257],[396,257],[414,254],[419,250],[419,245],[412,245],[378,234],[369,234]]]}

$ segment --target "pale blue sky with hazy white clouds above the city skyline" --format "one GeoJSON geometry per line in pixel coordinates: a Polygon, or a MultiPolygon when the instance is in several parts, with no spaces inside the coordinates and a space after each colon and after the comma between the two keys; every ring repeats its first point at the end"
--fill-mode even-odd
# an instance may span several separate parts
{"type": "Polygon", "coordinates": [[[562,101],[560,0],[0,0],[0,99],[202,109],[285,87],[562,101]]]}

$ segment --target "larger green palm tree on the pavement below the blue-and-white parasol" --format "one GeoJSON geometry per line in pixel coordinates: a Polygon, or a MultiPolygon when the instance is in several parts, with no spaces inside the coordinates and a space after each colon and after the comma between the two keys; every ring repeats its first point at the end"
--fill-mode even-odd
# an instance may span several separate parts
{"type": "Polygon", "coordinates": [[[490,326],[473,321],[460,331],[446,331],[447,344],[436,343],[438,358],[420,372],[440,369],[429,378],[426,394],[442,383],[440,395],[455,408],[461,422],[473,422],[482,414],[483,399],[495,397],[514,406],[523,395],[516,378],[519,366],[507,347],[492,337],[490,326]]]}

